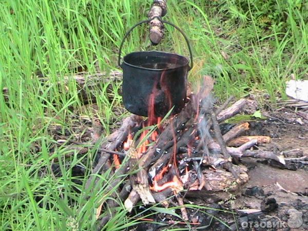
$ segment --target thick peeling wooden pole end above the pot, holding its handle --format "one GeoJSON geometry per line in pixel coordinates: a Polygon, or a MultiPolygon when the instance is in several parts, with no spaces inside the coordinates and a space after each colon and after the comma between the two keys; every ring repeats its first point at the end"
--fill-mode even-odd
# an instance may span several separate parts
{"type": "MultiPolygon", "coordinates": [[[[149,18],[162,17],[167,12],[167,0],[154,0],[151,9],[148,13],[149,18]]],[[[150,41],[153,45],[157,45],[162,40],[164,35],[164,25],[158,18],[154,18],[150,21],[150,41]]]]}

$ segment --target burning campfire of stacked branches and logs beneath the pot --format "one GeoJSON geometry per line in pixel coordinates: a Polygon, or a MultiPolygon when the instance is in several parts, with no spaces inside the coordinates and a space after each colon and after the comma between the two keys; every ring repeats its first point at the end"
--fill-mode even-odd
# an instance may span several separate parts
{"type": "MultiPolygon", "coordinates": [[[[220,107],[214,106],[213,86],[213,79],[205,76],[198,92],[187,94],[183,110],[164,118],[155,117],[155,106],[150,98],[147,119],[130,115],[106,138],[92,173],[102,174],[112,168],[117,178],[110,187],[124,182],[118,195],[127,211],[139,201],[144,205],[161,203],[168,207],[176,200],[172,203],[182,206],[182,218],[188,221],[182,192],[189,195],[192,191],[236,189],[248,180],[247,168],[237,161],[241,157],[261,157],[284,163],[280,156],[247,150],[258,143],[269,142],[270,138],[239,137],[249,129],[246,122],[222,135],[219,123],[243,111],[253,101],[241,99],[229,106],[233,101],[229,98],[220,107]],[[130,174],[127,176],[126,172],[130,174]]],[[[94,181],[93,176],[90,177],[86,187],[94,181]]],[[[98,217],[104,205],[114,207],[116,204],[114,200],[107,200],[99,207],[98,217]]],[[[101,224],[104,225],[110,216],[112,214],[104,217],[101,224]]]]}

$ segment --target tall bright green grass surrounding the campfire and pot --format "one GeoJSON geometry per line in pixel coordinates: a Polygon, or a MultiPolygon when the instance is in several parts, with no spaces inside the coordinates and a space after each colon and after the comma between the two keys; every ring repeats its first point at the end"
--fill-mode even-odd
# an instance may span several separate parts
{"type": "MultiPolygon", "coordinates": [[[[1,230],[93,229],[95,208],[102,198],[110,196],[106,185],[112,176],[100,176],[97,185],[103,186],[96,186],[90,193],[84,184],[74,183],[70,171],[75,165],[89,169],[94,150],[83,157],[73,153],[70,165],[62,158],[69,152],[65,145],[51,155],[56,140],[48,130],[50,126],[61,124],[64,133],[80,122],[71,119],[75,114],[93,118],[93,112],[83,110],[73,81],[66,86],[56,83],[80,65],[87,66],[90,73],[117,68],[117,52],[125,31],[146,18],[151,2],[0,2],[0,89],[9,92],[8,102],[0,94],[1,230]],[[48,81],[42,83],[37,71],[48,81]],[[61,160],[62,177],[52,174],[54,158],[61,160]]],[[[193,48],[191,82],[209,74],[216,78],[215,92],[220,99],[253,91],[268,93],[275,103],[277,95],[285,97],[284,84],[291,74],[307,78],[307,3],[263,2],[168,0],[164,19],[180,26],[193,48]]],[[[136,28],[123,54],[160,49],[187,55],[180,33],[166,28],[165,38],[157,47],[150,46],[146,26],[136,28]]],[[[121,107],[119,87],[114,84],[111,93],[106,86],[94,89],[104,134],[126,115],[119,117],[112,111],[115,106],[121,107]],[[108,100],[108,94],[113,95],[113,101],[108,100]]],[[[125,215],[121,203],[114,209],[117,215],[107,224],[107,230],[123,230],[138,222],[125,215]]]]}

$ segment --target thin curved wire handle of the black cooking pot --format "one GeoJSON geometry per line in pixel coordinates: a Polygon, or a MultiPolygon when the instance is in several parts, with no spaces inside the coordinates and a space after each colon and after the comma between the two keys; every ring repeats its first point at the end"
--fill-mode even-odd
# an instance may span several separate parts
{"type": "Polygon", "coordinates": [[[162,23],[166,23],[166,24],[168,24],[168,25],[170,25],[170,26],[176,28],[178,31],[181,32],[181,34],[182,34],[183,37],[185,38],[185,41],[186,41],[186,43],[187,43],[187,45],[188,45],[188,51],[189,51],[189,55],[190,55],[190,67],[189,67],[189,70],[190,70],[190,69],[194,66],[194,63],[193,63],[193,61],[192,61],[192,52],[191,52],[191,47],[190,47],[190,43],[189,43],[189,41],[188,41],[187,36],[185,35],[185,33],[184,33],[178,26],[176,26],[175,24],[172,24],[172,23],[169,23],[169,22],[167,22],[167,21],[162,20],[159,16],[155,16],[155,17],[149,18],[148,20],[143,20],[143,21],[137,23],[136,25],[134,25],[132,28],[130,28],[130,29],[126,32],[126,34],[125,34],[125,36],[123,37],[123,40],[122,40],[122,42],[121,42],[120,49],[119,49],[119,57],[118,57],[118,65],[119,65],[119,67],[121,67],[121,52],[122,52],[122,47],[123,47],[123,44],[124,44],[124,42],[125,42],[127,36],[130,34],[130,32],[131,32],[134,28],[138,27],[139,25],[141,25],[141,24],[143,24],[143,23],[148,23],[148,22],[152,21],[154,18],[157,18],[157,19],[158,19],[159,21],[161,21],[162,23]]]}

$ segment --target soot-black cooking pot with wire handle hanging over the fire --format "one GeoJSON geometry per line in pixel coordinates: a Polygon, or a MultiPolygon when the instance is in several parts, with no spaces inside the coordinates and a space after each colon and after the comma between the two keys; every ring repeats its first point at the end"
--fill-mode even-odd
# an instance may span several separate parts
{"type": "Polygon", "coordinates": [[[178,29],[184,36],[190,53],[189,60],[179,54],[161,51],[129,53],[121,60],[123,43],[129,33],[145,20],[134,25],[124,36],[119,51],[119,66],[123,69],[122,97],[125,108],[138,115],[164,117],[179,113],[185,105],[187,73],[192,68],[192,53],[186,35],[174,24],[159,20],[178,29]]]}

